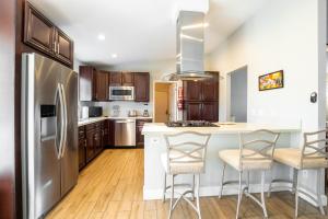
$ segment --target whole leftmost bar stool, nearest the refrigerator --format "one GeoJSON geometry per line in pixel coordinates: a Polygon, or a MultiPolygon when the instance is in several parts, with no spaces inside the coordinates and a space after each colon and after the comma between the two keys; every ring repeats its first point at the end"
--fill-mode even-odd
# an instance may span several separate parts
{"type": "Polygon", "coordinates": [[[161,154],[161,160],[164,168],[163,201],[165,201],[165,194],[167,189],[171,188],[168,218],[171,218],[173,210],[180,199],[186,200],[194,210],[196,210],[198,218],[201,218],[199,206],[199,183],[200,174],[204,173],[206,169],[206,152],[210,137],[211,135],[195,131],[164,135],[167,151],[161,154]],[[179,174],[192,174],[192,184],[175,184],[174,180],[179,174]],[[167,175],[171,176],[169,186],[166,186],[167,175]],[[184,186],[185,188],[187,186],[187,188],[183,193],[178,193],[175,191],[175,187],[177,186],[184,186]],[[173,203],[174,194],[179,195],[175,203],[173,203]],[[196,205],[186,197],[187,194],[191,194],[191,200],[194,200],[194,197],[196,196],[196,205]]]}

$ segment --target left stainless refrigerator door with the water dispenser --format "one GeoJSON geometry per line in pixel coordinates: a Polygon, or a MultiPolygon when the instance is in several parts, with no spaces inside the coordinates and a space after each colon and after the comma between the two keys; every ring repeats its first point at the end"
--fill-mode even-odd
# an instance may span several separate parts
{"type": "Polygon", "coordinates": [[[24,217],[42,217],[60,199],[62,107],[60,66],[36,54],[23,56],[22,119],[24,217]],[[56,97],[57,96],[57,97],[56,97]]]}

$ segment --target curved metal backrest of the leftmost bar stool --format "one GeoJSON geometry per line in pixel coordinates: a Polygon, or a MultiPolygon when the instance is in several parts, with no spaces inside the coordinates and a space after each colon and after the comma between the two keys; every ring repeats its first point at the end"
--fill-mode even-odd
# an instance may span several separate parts
{"type": "Polygon", "coordinates": [[[196,131],[164,135],[167,146],[168,169],[172,164],[184,163],[202,163],[204,166],[207,146],[210,137],[210,134],[196,131]]]}

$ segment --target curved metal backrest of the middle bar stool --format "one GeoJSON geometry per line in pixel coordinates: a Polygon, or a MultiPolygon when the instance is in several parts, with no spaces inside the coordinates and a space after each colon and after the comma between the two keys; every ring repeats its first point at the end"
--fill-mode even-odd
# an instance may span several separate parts
{"type": "Polygon", "coordinates": [[[239,134],[239,164],[249,161],[271,161],[280,134],[267,129],[239,134]]]}

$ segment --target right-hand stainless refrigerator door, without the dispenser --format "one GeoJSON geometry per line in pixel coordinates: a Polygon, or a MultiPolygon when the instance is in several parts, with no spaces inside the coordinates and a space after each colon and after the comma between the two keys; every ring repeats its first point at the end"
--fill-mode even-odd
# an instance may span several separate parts
{"type": "Polygon", "coordinates": [[[61,150],[61,196],[78,182],[78,73],[62,67],[61,88],[66,103],[66,141],[61,150]]]}

